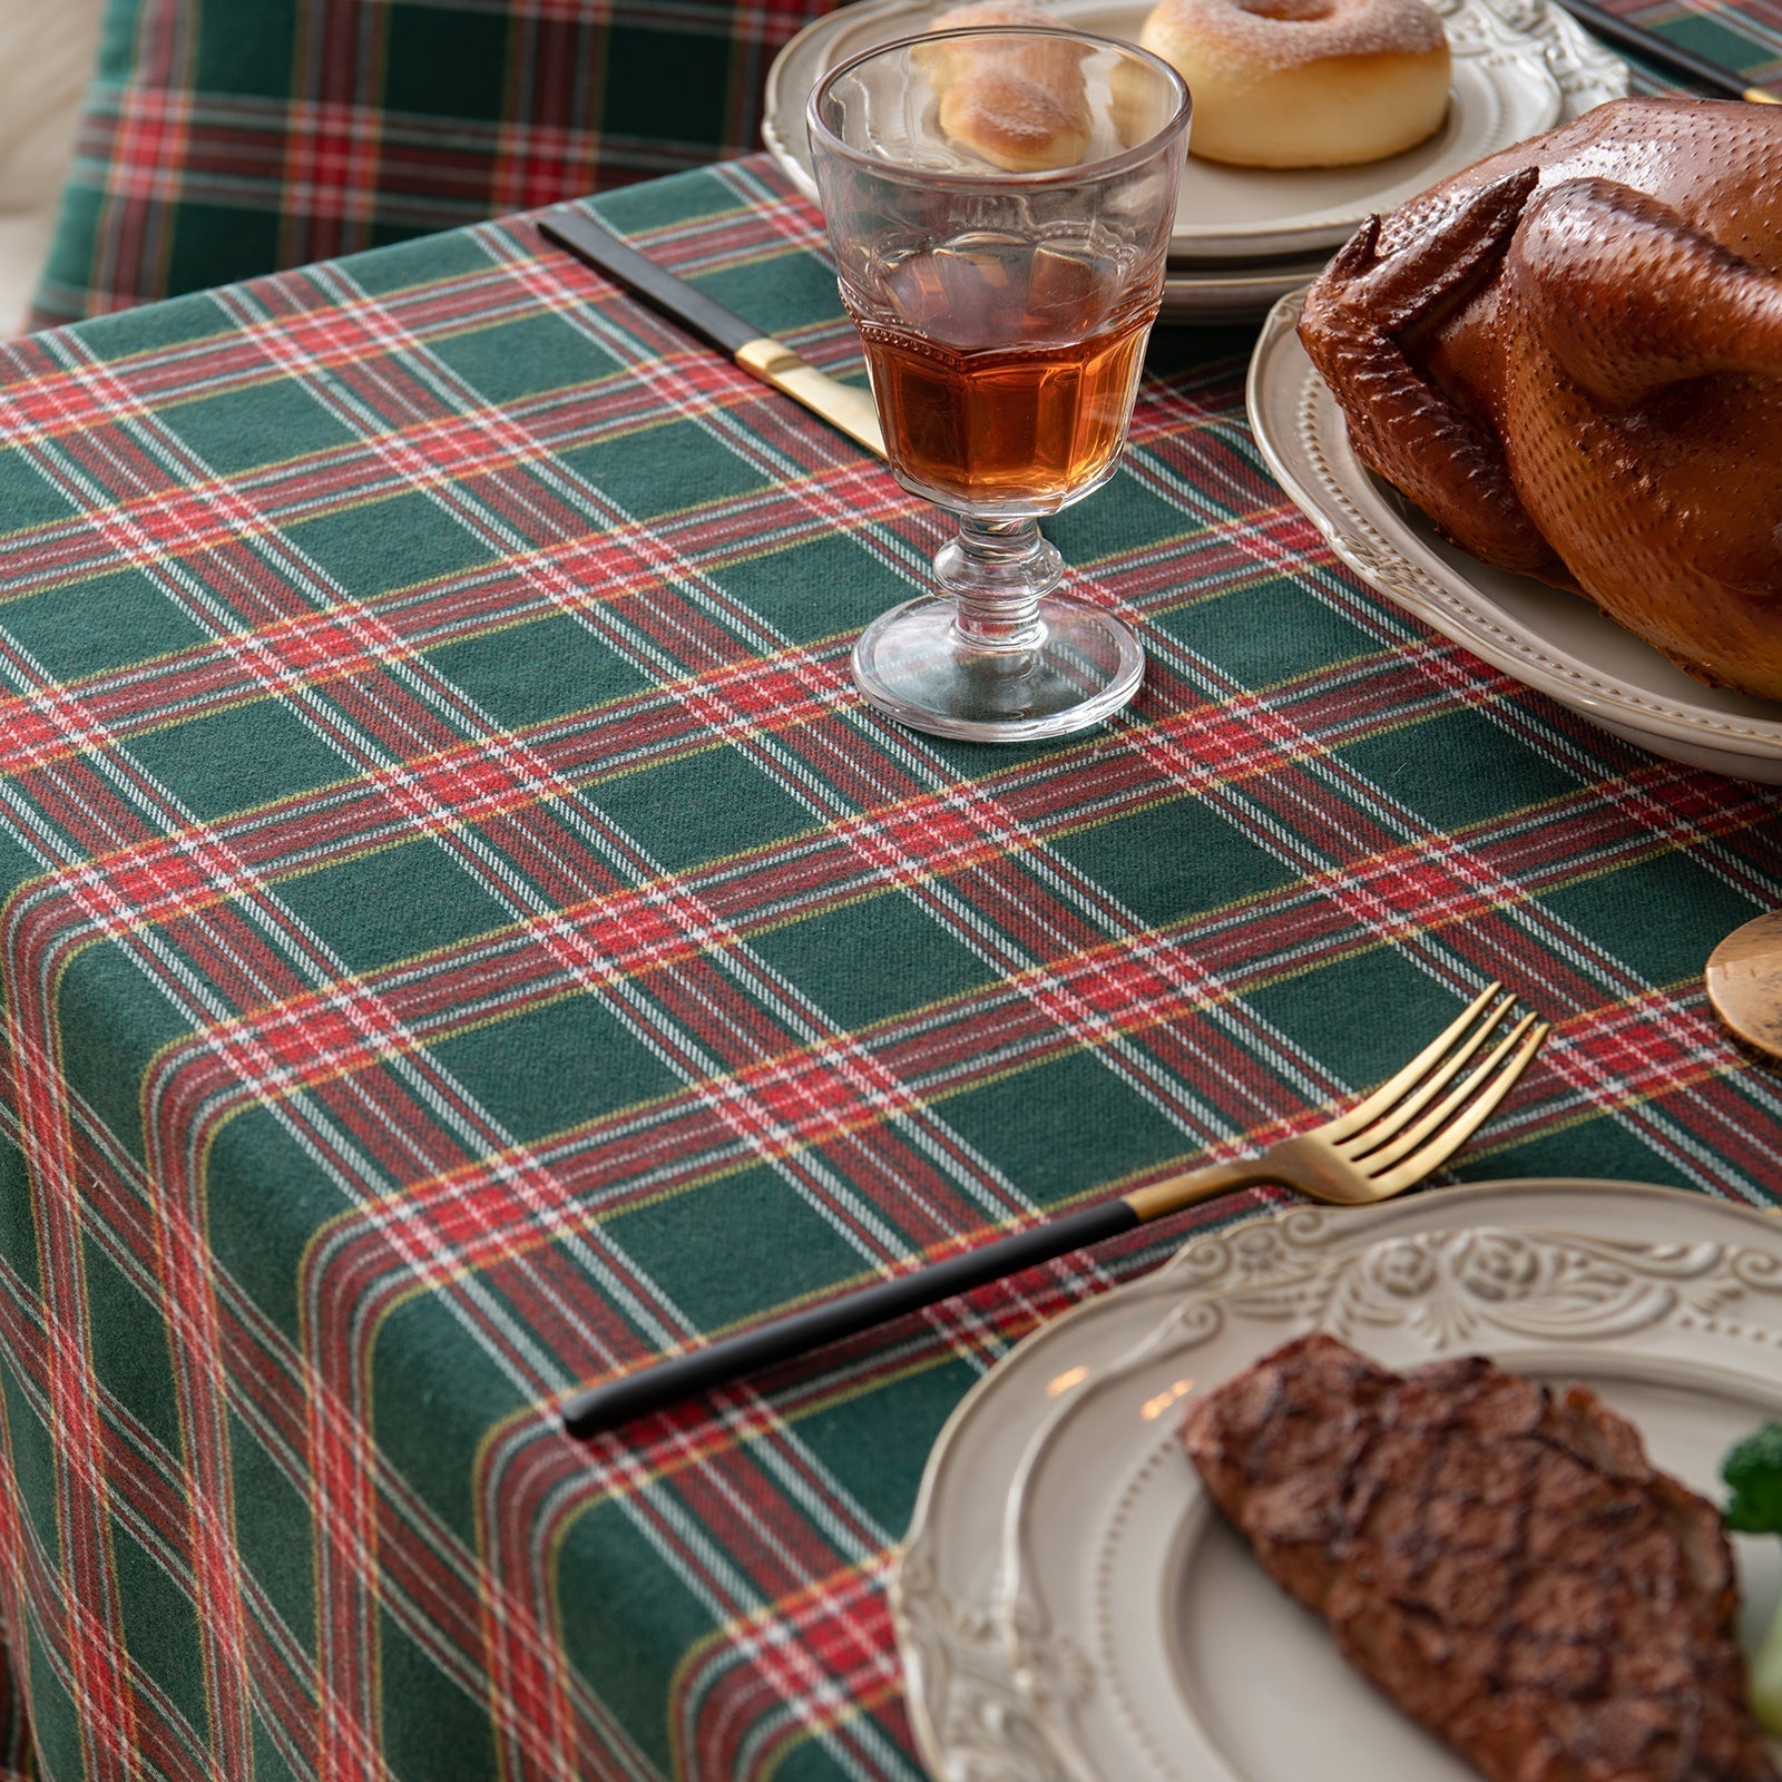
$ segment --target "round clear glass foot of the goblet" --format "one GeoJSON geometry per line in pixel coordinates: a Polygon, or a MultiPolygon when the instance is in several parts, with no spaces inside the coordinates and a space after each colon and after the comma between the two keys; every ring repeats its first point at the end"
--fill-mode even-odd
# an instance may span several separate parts
{"type": "Polygon", "coordinates": [[[875,618],[854,645],[854,681],[898,723],[930,736],[1025,743],[1071,736],[1119,711],[1144,679],[1139,640],[1080,601],[1044,595],[1041,636],[985,650],[959,634],[950,599],[923,595],[875,618]]]}

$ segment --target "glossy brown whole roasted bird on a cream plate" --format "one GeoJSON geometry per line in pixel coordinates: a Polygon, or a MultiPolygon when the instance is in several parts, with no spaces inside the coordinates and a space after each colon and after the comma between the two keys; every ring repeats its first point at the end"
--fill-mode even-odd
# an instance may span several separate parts
{"type": "Polygon", "coordinates": [[[1299,337],[1461,549],[1782,699],[1782,107],[1614,100],[1374,217],[1299,337]]]}

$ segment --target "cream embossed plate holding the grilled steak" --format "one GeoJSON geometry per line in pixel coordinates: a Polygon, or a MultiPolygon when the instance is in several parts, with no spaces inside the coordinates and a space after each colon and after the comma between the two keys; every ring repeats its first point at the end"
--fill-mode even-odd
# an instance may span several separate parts
{"type": "MultiPolygon", "coordinates": [[[[1609,1181],[1435,1189],[1187,1246],[1030,1336],[936,1443],[891,1586],[939,1782],[1467,1782],[1210,1509],[1194,1394],[1326,1329],[1390,1367],[1484,1353],[1581,1379],[1657,1465],[1782,1415],[1782,1221],[1609,1181]]],[[[1746,1638],[1782,1590],[1736,1540],[1746,1638]]]]}

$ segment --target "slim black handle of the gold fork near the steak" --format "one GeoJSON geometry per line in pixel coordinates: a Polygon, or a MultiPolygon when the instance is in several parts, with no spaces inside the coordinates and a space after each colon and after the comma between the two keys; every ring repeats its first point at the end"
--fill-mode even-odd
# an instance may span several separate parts
{"type": "Polygon", "coordinates": [[[722,1386],[773,1361],[807,1354],[827,1342],[854,1336],[905,1312],[932,1306],[939,1299],[1001,1279],[1018,1269],[1030,1269],[1035,1262],[1050,1262],[1053,1256],[1082,1249],[1083,1244],[1130,1231],[1137,1224],[1139,1215],[1124,1199],[1096,1201],[1062,1219],[1042,1219],[1025,1231],[996,1238],[994,1244],[980,1244],[911,1274],[895,1274],[889,1281],[875,1281],[827,1304],[793,1312],[784,1319],[707,1344],[704,1349],[677,1354],[670,1361],[640,1367],[604,1386],[576,1392],[563,1401],[563,1426],[572,1436],[617,1429],[645,1411],[659,1411],[665,1404],[688,1399],[695,1392],[722,1386]]]}

